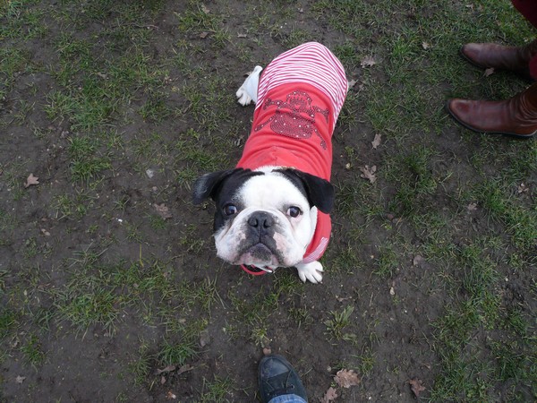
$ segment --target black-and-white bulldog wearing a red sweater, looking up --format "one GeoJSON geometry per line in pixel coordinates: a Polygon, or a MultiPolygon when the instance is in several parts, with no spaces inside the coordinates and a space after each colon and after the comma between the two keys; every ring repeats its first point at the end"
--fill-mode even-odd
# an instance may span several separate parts
{"type": "Polygon", "coordinates": [[[268,272],[296,267],[303,282],[321,282],[334,206],[331,137],[347,87],[340,61],[316,42],[246,78],[236,96],[255,110],[243,156],[193,184],[194,204],[215,201],[218,257],[268,272]]]}

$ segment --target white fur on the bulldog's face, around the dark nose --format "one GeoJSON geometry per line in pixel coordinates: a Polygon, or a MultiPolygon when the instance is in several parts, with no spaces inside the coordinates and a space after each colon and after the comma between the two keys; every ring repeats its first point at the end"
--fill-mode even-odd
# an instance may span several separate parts
{"type": "Polygon", "coordinates": [[[268,267],[289,267],[302,262],[317,223],[317,208],[311,208],[303,193],[273,167],[262,168],[265,175],[252,176],[235,194],[243,209],[226,222],[215,234],[217,255],[232,264],[252,264],[268,267]],[[293,208],[293,209],[291,209],[293,208]],[[290,211],[300,209],[297,217],[290,211]],[[291,210],[290,210],[291,209],[291,210]],[[273,235],[266,243],[254,239],[251,231],[252,214],[265,212],[271,219],[273,235]],[[256,245],[257,246],[252,246],[256,245]],[[267,246],[266,253],[252,249],[267,246]],[[261,258],[260,255],[263,255],[261,258]]]}

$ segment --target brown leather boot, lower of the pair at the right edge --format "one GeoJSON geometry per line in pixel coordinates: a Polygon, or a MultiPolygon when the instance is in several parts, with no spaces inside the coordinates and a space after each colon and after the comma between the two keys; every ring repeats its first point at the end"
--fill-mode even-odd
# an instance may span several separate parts
{"type": "Polygon", "coordinates": [[[537,133],[537,82],[503,101],[450,99],[447,111],[474,132],[530,138],[537,133]]]}

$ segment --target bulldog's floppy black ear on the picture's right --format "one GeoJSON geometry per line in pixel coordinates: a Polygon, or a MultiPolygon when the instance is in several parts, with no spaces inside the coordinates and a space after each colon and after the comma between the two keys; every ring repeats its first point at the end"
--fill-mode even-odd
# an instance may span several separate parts
{"type": "Polygon", "coordinates": [[[284,174],[294,184],[302,184],[311,206],[316,206],[326,214],[332,211],[335,199],[334,186],[326,179],[293,168],[277,169],[277,172],[284,174]]]}

